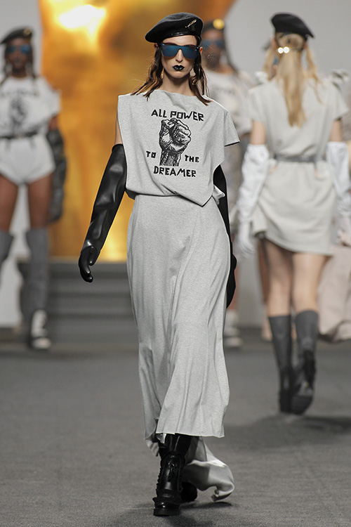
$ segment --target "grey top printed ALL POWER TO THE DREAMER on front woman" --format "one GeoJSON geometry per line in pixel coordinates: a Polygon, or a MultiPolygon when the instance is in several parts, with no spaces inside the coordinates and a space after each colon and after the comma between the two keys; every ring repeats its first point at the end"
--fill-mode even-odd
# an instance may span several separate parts
{"type": "Polygon", "coordinates": [[[126,152],[126,190],[180,195],[204,205],[224,147],[239,138],[229,112],[216,101],[155,90],[119,96],[118,120],[126,152]]]}

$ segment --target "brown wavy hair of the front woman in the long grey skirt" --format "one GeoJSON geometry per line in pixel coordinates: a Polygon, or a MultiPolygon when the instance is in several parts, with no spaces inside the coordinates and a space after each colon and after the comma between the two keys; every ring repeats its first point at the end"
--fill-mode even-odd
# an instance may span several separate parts
{"type": "MultiPolygon", "coordinates": [[[[160,46],[157,46],[154,53],[154,59],[152,60],[152,63],[149,67],[146,81],[144,84],[135,89],[131,93],[132,95],[144,93],[145,97],[149,98],[151,93],[162,85],[162,74],[164,72],[164,67],[162,66],[161,57],[161,48],[160,46]]],[[[197,58],[194,60],[193,70],[194,74],[190,74],[188,79],[189,87],[192,93],[194,93],[194,95],[197,96],[199,100],[201,100],[201,103],[208,105],[209,101],[204,98],[204,95],[207,94],[207,82],[204,69],[201,65],[201,53],[199,53],[197,58]]]]}

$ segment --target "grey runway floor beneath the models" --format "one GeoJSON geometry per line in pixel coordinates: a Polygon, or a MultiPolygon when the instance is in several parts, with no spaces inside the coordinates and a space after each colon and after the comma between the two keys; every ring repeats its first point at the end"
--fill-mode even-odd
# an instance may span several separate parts
{"type": "Polygon", "coordinates": [[[236,490],[152,516],[159,461],[143,441],[135,339],[123,347],[0,344],[1,527],[350,527],[350,341],[319,343],[304,417],[277,414],[270,344],[227,350],[225,438],[208,445],[236,490]]]}

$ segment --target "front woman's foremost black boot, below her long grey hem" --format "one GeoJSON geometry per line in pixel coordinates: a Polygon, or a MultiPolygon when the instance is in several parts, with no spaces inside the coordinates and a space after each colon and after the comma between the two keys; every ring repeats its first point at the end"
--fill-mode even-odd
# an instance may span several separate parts
{"type": "Polygon", "coordinates": [[[166,434],[160,443],[161,467],[154,500],[154,516],[176,516],[182,502],[182,475],[185,455],[192,436],[166,434]]]}

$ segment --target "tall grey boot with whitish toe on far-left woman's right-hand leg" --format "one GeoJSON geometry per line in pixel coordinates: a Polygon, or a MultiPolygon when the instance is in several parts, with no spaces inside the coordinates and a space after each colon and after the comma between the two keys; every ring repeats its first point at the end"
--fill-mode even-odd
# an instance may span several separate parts
{"type": "Polygon", "coordinates": [[[29,323],[28,344],[34,349],[48,349],[51,342],[46,330],[48,301],[48,231],[30,229],[26,233],[31,252],[28,274],[22,292],[22,311],[29,323]]]}

